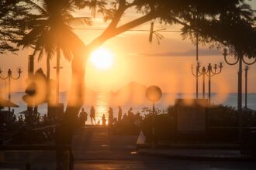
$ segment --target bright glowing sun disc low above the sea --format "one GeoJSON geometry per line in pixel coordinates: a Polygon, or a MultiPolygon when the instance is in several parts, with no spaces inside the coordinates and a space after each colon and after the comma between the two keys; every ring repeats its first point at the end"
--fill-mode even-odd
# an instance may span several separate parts
{"type": "Polygon", "coordinates": [[[95,68],[107,70],[112,66],[113,55],[109,50],[99,48],[91,53],[89,60],[95,68]]]}

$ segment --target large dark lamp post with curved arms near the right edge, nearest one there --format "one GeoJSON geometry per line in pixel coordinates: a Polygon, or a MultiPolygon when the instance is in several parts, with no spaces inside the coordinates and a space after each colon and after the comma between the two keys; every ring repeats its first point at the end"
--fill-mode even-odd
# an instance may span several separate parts
{"type": "Polygon", "coordinates": [[[238,119],[239,119],[239,138],[241,141],[241,134],[242,134],[242,115],[241,115],[241,111],[242,111],[242,68],[243,68],[243,63],[247,64],[247,65],[252,65],[254,63],[256,63],[256,58],[254,58],[254,61],[252,61],[251,63],[247,63],[244,60],[244,56],[243,55],[239,55],[237,56],[237,59],[234,61],[234,63],[231,63],[227,60],[227,48],[224,49],[223,52],[223,56],[225,59],[225,62],[227,64],[229,64],[230,66],[234,66],[238,63],[239,69],[238,69],[238,97],[237,97],[237,110],[238,110],[238,119]]]}

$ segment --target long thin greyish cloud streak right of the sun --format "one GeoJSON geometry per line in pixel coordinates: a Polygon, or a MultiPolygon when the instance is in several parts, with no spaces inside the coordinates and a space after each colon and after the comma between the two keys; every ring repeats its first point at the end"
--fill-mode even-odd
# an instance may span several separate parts
{"type": "MultiPolygon", "coordinates": [[[[189,49],[183,52],[166,52],[166,53],[139,53],[139,56],[195,56],[195,49],[189,49]]],[[[220,51],[217,49],[199,49],[199,56],[219,56],[220,51]]]]}

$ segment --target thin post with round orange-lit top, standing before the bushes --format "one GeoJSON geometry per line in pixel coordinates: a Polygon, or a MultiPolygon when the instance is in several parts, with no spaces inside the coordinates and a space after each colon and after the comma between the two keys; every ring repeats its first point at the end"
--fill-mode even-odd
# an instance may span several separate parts
{"type": "Polygon", "coordinates": [[[162,97],[162,91],[161,88],[157,86],[150,86],[147,87],[146,90],[146,97],[148,100],[150,100],[153,103],[153,115],[152,115],[152,135],[153,135],[153,142],[152,142],[152,148],[155,146],[155,129],[154,129],[154,118],[155,118],[155,108],[154,103],[161,99],[162,97]]]}

